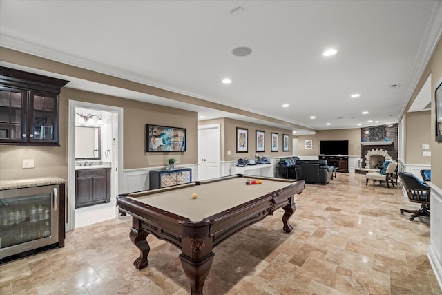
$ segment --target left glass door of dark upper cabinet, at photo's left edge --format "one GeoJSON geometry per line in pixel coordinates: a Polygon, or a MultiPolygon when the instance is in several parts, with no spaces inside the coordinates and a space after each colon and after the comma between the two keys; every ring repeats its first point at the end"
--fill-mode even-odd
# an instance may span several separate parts
{"type": "Polygon", "coordinates": [[[26,91],[0,87],[0,142],[26,140],[26,91]]]}

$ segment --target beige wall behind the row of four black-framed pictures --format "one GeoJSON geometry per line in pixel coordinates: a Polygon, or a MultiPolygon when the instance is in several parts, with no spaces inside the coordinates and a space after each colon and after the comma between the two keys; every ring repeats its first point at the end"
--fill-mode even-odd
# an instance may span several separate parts
{"type": "Polygon", "coordinates": [[[215,119],[215,120],[204,120],[198,122],[198,125],[208,125],[208,124],[220,124],[221,125],[221,160],[222,161],[232,161],[238,158],[255,158],[255,154],[268,155],[271,158],[274,157],[284,157],[292,155],[292,135],[291,130],[288,129],[278,129],[276,127],[253,124],[251,122],[245,122],[240,120],[232,120],[229,118],[215,119]],[[247,153],[236,153],[236,127],[247,129],[248,133],[248,151],[247,153]],[[256,130],[265,132],[265,151],[256,151],[256,130]],[[271,133],[278,133],[278,152],[271,151],[270,149],[270,139],[271,133]],[[289,151],[282,151],[282,135],[289,135],[289,151]],[[231,152],[228,155],[228,151],[231,152]]]}

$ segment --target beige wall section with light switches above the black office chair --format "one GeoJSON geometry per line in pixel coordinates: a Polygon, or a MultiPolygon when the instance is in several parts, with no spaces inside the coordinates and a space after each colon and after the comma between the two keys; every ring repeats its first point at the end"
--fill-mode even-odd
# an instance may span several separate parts
{"type": "MultiPolygon", "coordinates": [[[[407,113],[405,135],[405,159],[407,164],[431,164],[431,157],[423,157],[422,144],[432,142],[431,111],[407,113]]],[[[433,138],[434,140],[434,138],[433,138]]],[[[430,151],[430,150],[427,150],[430,151]]]]}

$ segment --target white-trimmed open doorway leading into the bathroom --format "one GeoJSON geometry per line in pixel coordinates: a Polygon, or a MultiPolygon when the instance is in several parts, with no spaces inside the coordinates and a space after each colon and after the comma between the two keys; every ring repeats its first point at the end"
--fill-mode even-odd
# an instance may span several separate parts
{"type": "Polygon", "coordinates": [[[117,218],[116,196],[122,187],[122,119],[123,109],[114,106],[69,101],[68,118],[68,217],[66,229],[117,218]],[[95,204],[75,209],[75,126],[80,117],[77,113],[102,116],[102,148],[98,162],[111,166],[111,200],[108,203],[95,204]]]}

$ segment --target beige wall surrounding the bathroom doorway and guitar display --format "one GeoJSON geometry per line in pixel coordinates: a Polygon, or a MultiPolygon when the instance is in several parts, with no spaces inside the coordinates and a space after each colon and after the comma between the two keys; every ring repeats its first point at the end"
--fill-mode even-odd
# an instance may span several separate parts
{"type": "Polygon", "coordinates": [[[60,94],[59,147],[0,146],[0,180],[55,175],[68,178],[68,100],[92,102],[124,108],[124,169],[165,166],[173,156],[177,164],[197,161],[197,114],[177,108],[146,104],[130,99],[100,95],[71,88],[60,94]],[[145,124],[187,129],[187,151],[182,153],[144,152],[145,124]],[[23,159],[35,159],[34,169],[22,169],[23,159]]]}

